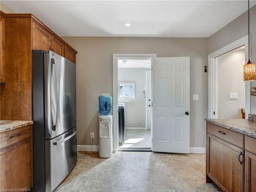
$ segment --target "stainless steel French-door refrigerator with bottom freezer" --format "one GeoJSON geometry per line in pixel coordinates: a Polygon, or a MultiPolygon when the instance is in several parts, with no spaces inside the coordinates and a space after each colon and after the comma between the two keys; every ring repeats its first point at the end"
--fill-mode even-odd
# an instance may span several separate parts
{"type": "Polygon", "coordinates": [[[77,162],[76,66],[33,50],[33,191],[53,191],[77,162]]]}

